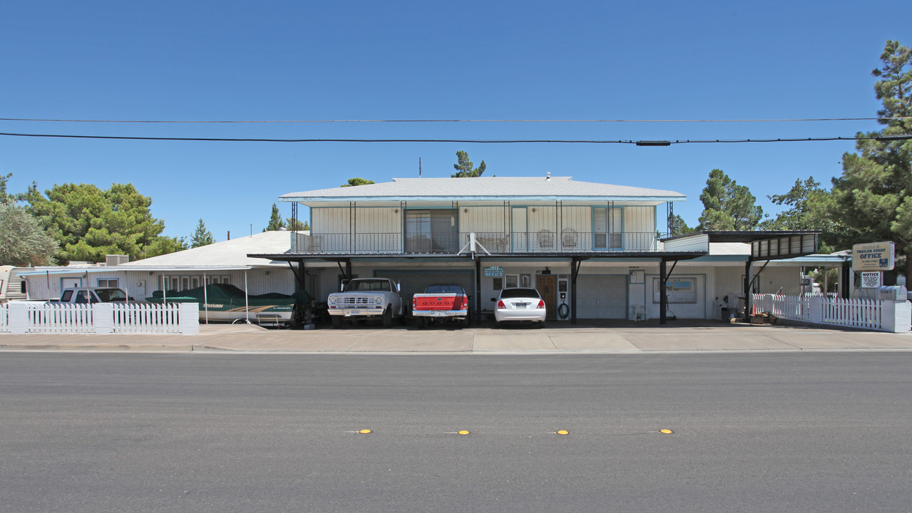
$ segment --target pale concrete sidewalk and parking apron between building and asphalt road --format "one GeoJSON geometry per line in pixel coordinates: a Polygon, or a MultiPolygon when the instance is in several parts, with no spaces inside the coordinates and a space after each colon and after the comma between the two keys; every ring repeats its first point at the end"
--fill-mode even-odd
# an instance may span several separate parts
{"type": "Polygon", "coordinates": [[[551,323],[544,329],[397,326],[267,330],[202,324],[197,336],[0,334],[0,351],[305,354],[637,354],[767,351],[912,351],[912,333],[714,321],[551,323]]]}

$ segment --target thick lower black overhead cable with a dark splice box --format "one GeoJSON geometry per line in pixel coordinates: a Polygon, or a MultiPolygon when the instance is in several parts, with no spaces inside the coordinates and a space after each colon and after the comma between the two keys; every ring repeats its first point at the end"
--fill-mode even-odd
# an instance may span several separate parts
{"type": "Polygon", "coordinates": [[[831,138],[777,138],[777,139],[686,139],[686,140],[599,140],[599,139],[233,139],[233,138],[164,138],[133,136],[87,136],[67,134],[18,134],[0,132],[0,136],[26,138],[62,138],[62,139],[115,139],[115,140],[172,140],[172,141],[215,141],[215,142],[459,142],[478,144],[515,144],[515,143],[570,143],[570,144],[634,144],[637,146],[670,146],[672,144],[695,143],[743,143],[743,142],[809,142],[830,140],[907,140],[912,135],[852,136],[831,138]]]}

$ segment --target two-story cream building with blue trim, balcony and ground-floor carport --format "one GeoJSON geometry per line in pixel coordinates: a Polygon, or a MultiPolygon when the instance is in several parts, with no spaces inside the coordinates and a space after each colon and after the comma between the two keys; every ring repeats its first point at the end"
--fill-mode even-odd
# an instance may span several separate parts
{"type": "Polygon", "coordinates": [[[503,287],[531,286],[556,320],[713,318],[744,301],[746,283],[798,293],[802,267],[820,264],[782,260],[813,253],[814,232],[669,239],[683,194],[550,173],[394,179],[279,200],[295,219],[309,209],[310,233],[290,234],[290,251],[250,256],[292,263],[298,288],[323,299],[347,279],[384,276],[409,303],[428,283],[460,283],[476,317],[503,287]],[[762,280],[752,262],[766,262],[762,280]]]}

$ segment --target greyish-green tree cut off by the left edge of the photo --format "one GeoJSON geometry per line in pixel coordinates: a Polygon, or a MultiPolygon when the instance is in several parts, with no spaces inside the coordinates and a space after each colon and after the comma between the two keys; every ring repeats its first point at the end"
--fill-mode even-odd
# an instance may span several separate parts
{"type": "Polygon", "coordinates": [[[0,265],[47,265],[56,252],[57,242],[34,216],[12,201],[0,201],[0,265]]]}

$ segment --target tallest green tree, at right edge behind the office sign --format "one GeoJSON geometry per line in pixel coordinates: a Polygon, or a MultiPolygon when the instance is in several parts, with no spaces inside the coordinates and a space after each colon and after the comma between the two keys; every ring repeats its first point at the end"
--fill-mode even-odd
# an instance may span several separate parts
{"type": "Polygon", "coordinates": [[[880,56],[877,111],[880,131],[859,133],[856,153],[843,155],[843,174],[833,179],[831,194],[817,199],[841,225],[842,247],[857,242],[893,241],[906,256],[906,275],[912,276],[912,49],[889,40],[880,56]]]}

